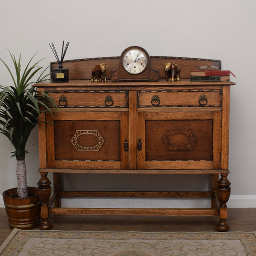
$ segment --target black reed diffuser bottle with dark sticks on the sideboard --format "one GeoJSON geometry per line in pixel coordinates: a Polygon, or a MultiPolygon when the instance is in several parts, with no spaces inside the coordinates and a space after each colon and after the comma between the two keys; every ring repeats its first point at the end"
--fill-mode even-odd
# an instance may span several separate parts
{"type": "Polygon", "coordinates": [[[62,68],[62,62],[63,62],[65,54],[67,52],[69,42],[66,43],[65,49],[64,49],[64,41],[62,43],[61,59],[59,58],[59,56],[57,54],[54,44],[51,43],[51,45],[49,44],[49,46],[59,64],[58,69],[52,70],[52,82],[53,83],[67,83],[69,81],[69,73],[68,73],[68,69],[62,68]]]}

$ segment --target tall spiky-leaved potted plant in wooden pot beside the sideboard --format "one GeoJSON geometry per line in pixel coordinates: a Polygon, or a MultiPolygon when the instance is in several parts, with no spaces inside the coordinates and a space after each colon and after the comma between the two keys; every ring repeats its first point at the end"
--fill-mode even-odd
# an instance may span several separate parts
{"type": "Polygon", "coordinates": [[[25,155],[28,152],[25,147],[31,131],[38,123],[40,113],[52,114],[50,107],[57,109],[57,106],[47,94],[37,92],[37,88],[31,86],[47,77],[44,75],[47,68],[42,70],[44,67],[38,66],[43,59],[33,64],[35,54],[22,73],[21,54],[16,61],[14,54],[10,51],[9,53],[15,72],[12,73],[2,59],[0,61],[8,69],[14,85],[0,85],[0,133],[4,134],[15,148],[12,156],[17,160],[17,188],[4,191],[3,200],[11,228],[33,229],[39,225],[40,200],[37,188],[27,187],[25,155]],[[35,75],[39,76],[32,82],[35,75]]]}

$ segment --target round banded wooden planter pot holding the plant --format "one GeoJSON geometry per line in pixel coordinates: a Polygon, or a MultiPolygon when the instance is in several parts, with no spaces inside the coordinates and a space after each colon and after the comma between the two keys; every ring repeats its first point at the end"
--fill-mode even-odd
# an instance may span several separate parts
{"type": "Polygon", "coordinates": [[[36,187],[28,187],[27,198],[18,198],[17,188],[8,189],[2,195],[10,228],[30,230],[39,226],[41,202],[36,187]]]}

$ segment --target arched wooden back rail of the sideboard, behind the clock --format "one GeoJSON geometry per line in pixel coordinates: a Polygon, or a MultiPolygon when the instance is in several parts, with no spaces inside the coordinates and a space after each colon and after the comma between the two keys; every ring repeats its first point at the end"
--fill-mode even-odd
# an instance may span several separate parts
{"type": "MultiPolygon", "coordinates": [[[[69,80],[86,80],[91,79],[92,67],[100,64],[107,64],[107,79],[110,79],[112,70],[116,70],[119,66],[120,57],[102,57],[90,59],[78,59],[63,61],[63,68],[69,69],[69,80]]],[[[183,57],[167,57],[167,56],[150,56],[150,62],[153,69],[159,70],[159,79],[165,79],[163,68],[164,62],[171,62],[178,64],[181,68],[181,78],[190,78],[192,70],[199,70],[199,66],[217,66],[221,69],[221,61],[196,59],[196,58],[183,58],[183,57]]],[[[51,79],[52,69],[58,68],[58,62],[51,62],[51,79]]]]}

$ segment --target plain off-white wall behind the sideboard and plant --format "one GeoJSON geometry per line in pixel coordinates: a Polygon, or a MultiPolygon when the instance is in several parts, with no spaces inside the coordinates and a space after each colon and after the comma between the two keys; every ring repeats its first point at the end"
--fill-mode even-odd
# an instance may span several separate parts
{"type": "MultiPolygon", "coordinates": [[[[231,92],[231,206],[256,207],[255,10],[254,0],[0,0],[0,58],[11,63],[7,48],[16,56],[22,51],[25,61],[38,51],[37,59],[46,58],[42,64],[48,66],[55,61],[49,43],[60,51],[65,40],[70,42],[66,60],[118,56],[131,45],[150,55],[221,60],[222,69],[237,76],[231,92]]],[[[10,83],[0,64],[0,85],[10,83]]],[[[36,128],[26,156],[31,186],[39,179],[37,139],[36,128]]],[[[11,151],[10,142],[0,136],[0,192],[16,186],[11,151]]],[[[92,189],[104,183],[98,176],[85,178],[92,189]]],[[[200,181],[196,187],[204,188],[200,181]]]]}

